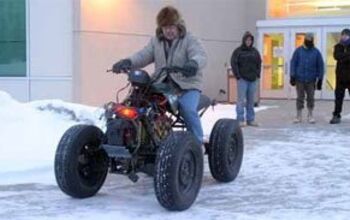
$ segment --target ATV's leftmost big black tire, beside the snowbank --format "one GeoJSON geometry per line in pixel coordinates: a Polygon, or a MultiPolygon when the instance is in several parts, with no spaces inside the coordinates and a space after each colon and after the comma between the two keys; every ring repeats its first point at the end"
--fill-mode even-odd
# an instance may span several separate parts
{"type": "Polygon", "coordinates": [[[99,148],[103,133],[91,125],[75,125],[61,138],[55,156],[55,176],[60,189],[74,198],[95,195],[104,183],[108,157],[99,148]]]}

